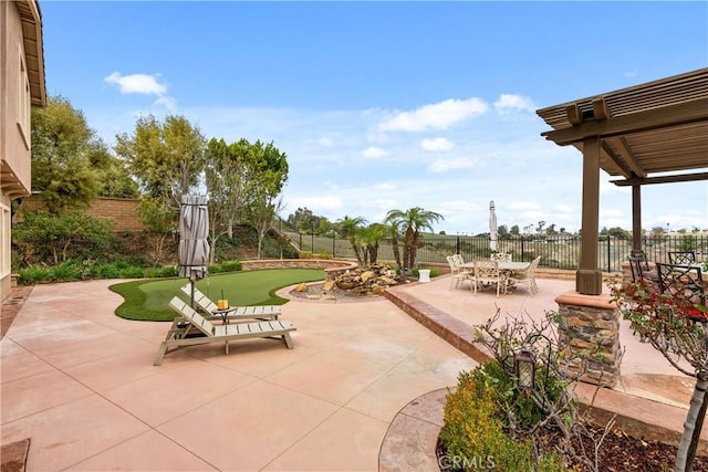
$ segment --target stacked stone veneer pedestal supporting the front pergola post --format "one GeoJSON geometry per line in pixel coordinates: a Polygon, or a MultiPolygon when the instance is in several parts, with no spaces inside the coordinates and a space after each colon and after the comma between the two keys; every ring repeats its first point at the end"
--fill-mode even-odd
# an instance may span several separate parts
{"type": "MultiPolygon", "coordinates": [[[[621,314],[606,294],[583,295],[566,292],[555,298],[561,322],[559,344],[562,352],[587,349],[592,354],[585,361],[581,380],[612,388],[620,378],[622,350],[620,346],[621,314]]],[[[566,366],[571,376],[583,367],[579,360],[566,366]]]]}

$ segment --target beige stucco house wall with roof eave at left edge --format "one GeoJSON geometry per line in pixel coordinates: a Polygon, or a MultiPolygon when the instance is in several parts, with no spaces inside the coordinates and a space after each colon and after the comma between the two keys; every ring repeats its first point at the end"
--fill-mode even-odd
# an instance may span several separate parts
{"type": "Polygon", "coordinates": [[[32,187],[30,109],[45,105],[39,3],[0,1],[0,300],[11,289],[12,200],[32,187]]]}

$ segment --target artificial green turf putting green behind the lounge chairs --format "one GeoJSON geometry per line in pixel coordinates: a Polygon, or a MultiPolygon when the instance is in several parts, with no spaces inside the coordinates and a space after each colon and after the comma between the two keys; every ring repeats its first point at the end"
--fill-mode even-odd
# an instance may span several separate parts
{"type": "MultiPolygon", "coordinates": [[[[215,303],[223,293],[229,305],[282,305],[288,301],[275,295],[278,290],[323,279],[324,271],[321,269],[264,269],[209,275],[198,281],[196,286],[215,303]]],[[[187,279],[180,277],[111,285],[111,290],[124,298],[123,304],[115,310],[115,314],[127,319],[173,321],[177,314],[168,303],[175,295],[186,302],[189,301],[189,296],[179,290],[187,283],[189,283],[187,279]]]]}

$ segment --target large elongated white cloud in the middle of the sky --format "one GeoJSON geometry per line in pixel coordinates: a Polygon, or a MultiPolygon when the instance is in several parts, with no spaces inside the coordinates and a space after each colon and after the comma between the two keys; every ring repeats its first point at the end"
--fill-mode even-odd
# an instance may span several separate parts
{"type": "Polygon", "coordinates": [[[482,115],[487,109],[487,104],[475,97],[446,99],[445,102],[424,105],[413,112],[398,113],[393,118],[378,125],[378,129],[383,132],[447,129],[461,120],[482,115]]]}

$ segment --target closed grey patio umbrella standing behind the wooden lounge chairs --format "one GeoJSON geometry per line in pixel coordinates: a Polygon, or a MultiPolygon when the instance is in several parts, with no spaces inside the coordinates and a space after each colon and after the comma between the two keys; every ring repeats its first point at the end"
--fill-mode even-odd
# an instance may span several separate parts
{"type": "Polygon", "coordinates": [[[207,275],[209,260],[209,210],[207,197],[185,195],[179,211],[179,276],[191,282],[192,307],[195,281],[207,275]]]}

